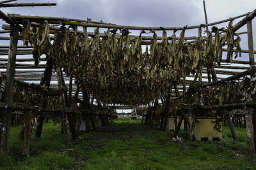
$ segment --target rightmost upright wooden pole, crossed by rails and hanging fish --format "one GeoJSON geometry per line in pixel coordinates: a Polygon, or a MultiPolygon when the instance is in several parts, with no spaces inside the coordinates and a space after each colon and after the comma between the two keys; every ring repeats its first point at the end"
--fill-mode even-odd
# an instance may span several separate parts
{"type": "MultiPolygon", "coordinates": [[[[248,48],[249,48],[250,67],[252,68],[254,66],[252,20],[247,21],[247,32],[248,32],[248,48]]],[[[253,75],[251,75],[251,78],[253,78],[253,75]]],[[[248,93],[250,93],[250,91],[248,93]]],[[[251,96],[251,94],[248,95],[246,102],[250,102],[250,96],[251,96]]],[[[252,108],[246,109],[245,119],[246,119],[246,134],[247,134],[247,152],[249,154],[255,153],[252,114],[253,114],[252,108]]]]}

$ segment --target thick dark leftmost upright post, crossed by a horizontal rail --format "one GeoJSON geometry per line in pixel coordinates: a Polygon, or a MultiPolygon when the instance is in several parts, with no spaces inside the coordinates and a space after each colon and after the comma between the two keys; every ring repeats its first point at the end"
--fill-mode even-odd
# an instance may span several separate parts
{"type": "MultiPolygon", "coordinates": [[[[10,33],[10,47],[9,47],[9,56],[8,56],[8,65],[6,69],[6,89],[4,102],[12,103],[13,102],[13,90],[14,90],[14,75],[15,75],[15,63],[16,63],[16,53],[17,53],[17,43],[19,36],[19,27],[12,25],[12,32],[10,33]]],[[[12,123],[12,111],[8,110],[4,119],[4,132],[3,137],[1,137],[0,144],[0,153],[9,154],[9,137],[10,137],[10,128],[12,123]]]]}

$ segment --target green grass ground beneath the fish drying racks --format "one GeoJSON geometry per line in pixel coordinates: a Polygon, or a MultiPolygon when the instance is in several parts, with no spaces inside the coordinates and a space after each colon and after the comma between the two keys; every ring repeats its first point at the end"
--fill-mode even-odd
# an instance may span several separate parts
{"type": "Polygon", "coordinates": [[[173,141],[173,132],[152,129],[140,120],[117,119],[96,132],[82,133],[63,143],[60,124],[44,125],[41,139],[32,138],[30,155],[21,157],[21,127],[13,127],[10,156],[0,155],[0,169],[256,169],[256,159],[246,157],[246,132],[236,128],[239,143],[228,127],[223,140],[173,141]]]}

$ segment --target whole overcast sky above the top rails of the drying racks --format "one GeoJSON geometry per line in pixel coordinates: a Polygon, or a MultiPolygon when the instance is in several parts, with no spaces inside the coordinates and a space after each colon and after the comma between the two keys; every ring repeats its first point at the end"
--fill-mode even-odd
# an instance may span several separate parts
{"type": "MultiPolygon", "coordinates": [[[[57,3],[51,7],[1,8],[4,13],[67,17],[74,19],[91,18],[95,21],[111,22],[127,26],[194,26],[205,23],[202,0],[18,0],[17,3],[57,3]]],[[[236,17],[252,12],[255,0],[205,0],[209,22],[236,17]]],[[[235,20],[235,23],[240,19],[235,20]]],[[[221,25],[222,26],[222,25],[221,25]]],[[[223,26],[227,26],[227,23],[223,26]]],[[[253,31],[255,24],[253,23],[253,31]]],[[[246,27],[241,29],[246,31],[246,27]],[[245,29],[245,30],[244,30],[245,29]]],[[[186,31],[186,36],[197,36],[197,30],[186,31]]],[[[172,35],[172,31],[168,31],[172,35]]],[[[246,38],[246,35],[244,35],[246,38]]],[[[256,38],[256,35],[253,37],[256,38]]],[[[247,48],[247,40],[242,48],[247,48]]]]}

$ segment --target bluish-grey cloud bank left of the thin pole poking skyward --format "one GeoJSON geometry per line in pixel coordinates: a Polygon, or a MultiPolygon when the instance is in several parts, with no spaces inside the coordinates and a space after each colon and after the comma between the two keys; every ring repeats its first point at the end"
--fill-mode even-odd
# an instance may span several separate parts
{"type": "MultiPolygon", "coordinates": [[[[20,3],[25,2],[20,0],[20,3]]],[[[130,26],[185,26],[192,25],[192,17],[200,17],[198,6],[181,1],[156,0],[95,0],[95,1],[51,1],[57,6],[22,7],[4,9],[6,13],[42,15],[76,19],[103,20],[113,24],[130,26]],[[191,15],[193,13],[193,15],[191,15]]]]}

